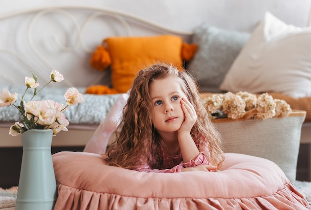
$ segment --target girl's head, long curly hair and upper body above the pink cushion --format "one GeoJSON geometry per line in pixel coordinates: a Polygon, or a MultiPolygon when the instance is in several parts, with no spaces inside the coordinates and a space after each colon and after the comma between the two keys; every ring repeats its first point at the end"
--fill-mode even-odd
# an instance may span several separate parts
{"type": "Polygon", "coordinates": [[[141,70],[133,82],[104,160],[143,172],[215,171],[221,138],[201,103],[196,82],[166,64],[141,70]]]}

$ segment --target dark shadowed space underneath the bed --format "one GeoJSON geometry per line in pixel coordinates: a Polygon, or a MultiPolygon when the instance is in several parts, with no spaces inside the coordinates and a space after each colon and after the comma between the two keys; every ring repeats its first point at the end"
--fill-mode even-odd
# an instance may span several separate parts
{"type": "MultiPolygon", "coordinates": [[[[83,151],[84,147],[52,147],[52,154],[59,151],[83,151]]],[[[301,144],[297,163],[297,180],[309,180],[309,144],[301,144]]],[[[18,185],[22,159],[22,148],[0,148],[0,187],[18,185]]]]}

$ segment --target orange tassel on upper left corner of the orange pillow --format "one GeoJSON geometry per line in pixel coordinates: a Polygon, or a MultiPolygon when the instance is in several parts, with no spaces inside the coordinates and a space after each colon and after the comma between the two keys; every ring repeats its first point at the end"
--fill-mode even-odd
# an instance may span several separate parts
{"type": "Polygon", "coordinates": [[[111,64],[109,52],[100,45],[92,55],[90,65],[96,70],[103,71],[111,64]]]}

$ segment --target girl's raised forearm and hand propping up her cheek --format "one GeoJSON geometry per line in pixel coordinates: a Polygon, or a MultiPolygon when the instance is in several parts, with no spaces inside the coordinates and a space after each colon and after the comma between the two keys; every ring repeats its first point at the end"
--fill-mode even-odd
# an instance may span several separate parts
{"type": "Polygon", "coordinates": [[[185,114],[185,120],[178,130],[178,142],[183,161],[189,162],[190,160],[196,159],[200,154],[200,151],[190,134],[198,117],[194,107],[186,98],[182,98],[180,103],[185,114]]]}

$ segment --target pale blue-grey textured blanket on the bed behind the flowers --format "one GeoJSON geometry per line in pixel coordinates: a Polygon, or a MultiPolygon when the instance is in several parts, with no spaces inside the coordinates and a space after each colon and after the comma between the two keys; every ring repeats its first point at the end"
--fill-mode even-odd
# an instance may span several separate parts
{"type": "MultiPolygon", "coordinates": [[[[22,95],[25,92],[25,86],[10,86],[4,87],[0,85],[0,90],[8,89],[11,94],[16,92],[18,94],[15,105],[20,104],[22,95]]],[[[77,88],[81,93],[85,92],[85,88],[77,88]]],[[[64,94],[67,88],[65,87],[45,87],[36,95],[33,100],[51,99],[61,104],[65,104],[64,94]]],[[[25,101],[28,102],[33,95],[33,90],[29,89],[25,95],[25,101]]],[[[111,95],[92,95],[84,94],[85,102],[79,103],[75,106],[70,106],[64,111],[64,114],[70,124],[95,124],[99,125],[105,119],[109,110],[117,100],[120,94],[111,95]]],[[[14,106],[0,108],[0,121],[11,122],[19,121],[21,119],[20,112],[14,106]]]]}

